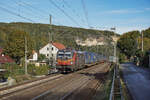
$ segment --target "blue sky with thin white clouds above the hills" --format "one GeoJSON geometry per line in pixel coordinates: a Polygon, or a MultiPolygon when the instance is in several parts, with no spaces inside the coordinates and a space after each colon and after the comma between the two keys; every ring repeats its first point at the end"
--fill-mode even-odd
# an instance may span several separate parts
{"type": "Polygon", "coordinates": [[[0,22],[30,22],[110,30],[150,27],[150,0],[0,0],[0,22]]]}

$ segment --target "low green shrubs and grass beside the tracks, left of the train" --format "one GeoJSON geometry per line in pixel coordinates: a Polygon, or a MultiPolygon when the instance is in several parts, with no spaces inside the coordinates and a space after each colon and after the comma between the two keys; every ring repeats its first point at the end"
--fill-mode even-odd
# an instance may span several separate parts
{"type": "Polygon", "coordinates": [[[23,82],[25,80],[30,80],[32,76],[39,76],[39,75],[47,75],[49,66],[34,66],[28,65],[28,75],[25,75],[25,68],[24,66],[20,66],[17,64],[4,64],[1,65],[0,68],[4,68],[7,72],[4,74],[5,78],[12,77],[16,80],[17,83],[23,82]]]}

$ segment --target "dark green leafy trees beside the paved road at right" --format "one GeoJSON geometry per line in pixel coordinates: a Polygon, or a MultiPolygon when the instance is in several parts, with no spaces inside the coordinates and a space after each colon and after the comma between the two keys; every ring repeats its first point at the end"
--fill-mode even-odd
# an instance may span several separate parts
{"type": "Polygon", "coordinates": [[[120,37],[117,43],[117,46],[121,51],[120,60],[123,58],[123,55],[125,55],[128,58],[134,57],[139,59],[141,66],[148,66],[148,52],[150,50],[150,28],[143,30],[142,33],[144,48],[143,52],[141,51],[142,38],[138,31],[127,32],[120,37]]]}

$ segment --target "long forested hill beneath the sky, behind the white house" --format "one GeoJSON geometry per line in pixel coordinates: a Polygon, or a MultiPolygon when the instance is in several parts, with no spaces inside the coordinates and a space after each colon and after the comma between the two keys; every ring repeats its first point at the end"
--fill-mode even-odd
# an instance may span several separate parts
{"type": "MultiPolygon", "coordinates": [[[[66,26],[56,26],[38,23],[0,23],[0,47],[3,47],[8,34],[13,30],[21,30],[27,32],[34,42],[34,48],[38,50],[48,43],[48,32],[53,34],[53,41],[63,43],[66,46],[76,48],[76,39],[86,40],[87,38],[99,39],[101,42],[111,43],[113,32],[98,31],[92,29],[73,28],[66,26]],[[52,29],[52,30],[50,30],[52,29]]],[[[99,41],[99,40],[98,40],[99,41]]]]}

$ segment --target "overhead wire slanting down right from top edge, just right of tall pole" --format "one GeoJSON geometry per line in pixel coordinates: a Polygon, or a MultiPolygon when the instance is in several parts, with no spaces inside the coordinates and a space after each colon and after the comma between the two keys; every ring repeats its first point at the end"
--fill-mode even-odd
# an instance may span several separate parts
{"type": "Polygon", "coordinates": [[[65,16],[67,16],[72,22],[74,22],[76,25],[80,26],[76,20],[74,20],[68,13],[66,13],[63,9],[61,9],[54,1],[49,0],[50,3],[52,3],[57,9],[59,9],[65,16]]]}

